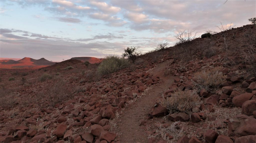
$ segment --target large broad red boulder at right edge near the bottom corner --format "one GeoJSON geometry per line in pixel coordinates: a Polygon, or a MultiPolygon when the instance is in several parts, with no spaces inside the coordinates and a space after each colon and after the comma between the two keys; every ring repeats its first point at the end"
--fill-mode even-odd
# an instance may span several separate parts
{"type": "Polygon", "coordinates": [[[247,115],[237,115],[229,119],[228,135],[229,136],[247,136],[256,135],[256,119],[247,115]]]}

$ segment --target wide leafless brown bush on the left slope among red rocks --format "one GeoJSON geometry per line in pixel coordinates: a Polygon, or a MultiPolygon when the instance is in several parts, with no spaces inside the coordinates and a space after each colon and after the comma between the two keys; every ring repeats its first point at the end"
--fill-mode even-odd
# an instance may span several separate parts
{"type": "Polygon", "coordinates": [[[44,90],[36,94],[37,99],[45,101],[48,106],[73,97],[73,87],[68,85],[65,80],[57,78],[52,83],[45,84],[44,90]]]}

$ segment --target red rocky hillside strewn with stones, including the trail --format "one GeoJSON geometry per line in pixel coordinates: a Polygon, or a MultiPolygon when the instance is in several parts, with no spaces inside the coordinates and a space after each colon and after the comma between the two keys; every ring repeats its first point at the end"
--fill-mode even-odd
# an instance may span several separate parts
{"type": "MultiPolygon", "coordinates": [[[[226,33],[238,37],[246,31],[255,33],[255,25],[226,33]]],[[[246,63],[228,60],[238,55],[223,50],[222,35],[195,39],[190,45],[198,51],[189,61],[183,60],[185,52],[177,57],[175,46],[102,77],[95,74],[97,64],[87,67],[79,60],[39,70],[1,70],[0,142],[253,143],[255,73],[246,72],[246,63]],[[215,49],[211,56],[204,50],[209,45],[215,49]],[[198,90],[200,104],[190,112],[170,111],[163,101],[176,91],[197,89],[195,77],[205,71],[221,72],[224,80],[198,90]],[[54,76],[43,80],[44,74],[54,76]]]]}

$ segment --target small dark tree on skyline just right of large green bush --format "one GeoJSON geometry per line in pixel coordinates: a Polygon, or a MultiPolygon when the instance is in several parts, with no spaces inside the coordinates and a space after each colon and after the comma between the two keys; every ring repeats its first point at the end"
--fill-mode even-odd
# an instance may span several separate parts
{"type": "Polygon", "coordinates": [[[140,47],[127,47],[126,49],[124,48],[124,53],[122,54],[123,57],[127,57],[128,59],[132,60],[134,63],[135,60],[137,59],[137,56],[141,54],[141,51],[138,50],[140,47]]]}

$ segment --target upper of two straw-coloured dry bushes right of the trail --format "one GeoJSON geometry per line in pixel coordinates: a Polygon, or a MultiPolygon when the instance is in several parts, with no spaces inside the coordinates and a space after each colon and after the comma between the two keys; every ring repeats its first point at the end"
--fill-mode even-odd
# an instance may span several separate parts
{"type": "Polygon", "coordinates": [[[194,88],[197,91],[203,88],[207,91],[215,91],[226,81],[226,76],[220,70],[220,67],[216,67],[195,73],[192,80],[194,88]]]}

